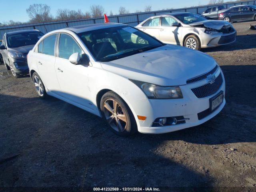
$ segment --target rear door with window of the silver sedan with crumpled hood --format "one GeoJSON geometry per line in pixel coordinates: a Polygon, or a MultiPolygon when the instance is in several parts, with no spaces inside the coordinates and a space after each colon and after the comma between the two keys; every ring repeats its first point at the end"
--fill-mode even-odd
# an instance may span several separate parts
{"type": "Polygon", "coordinates": [[[160,17],[152,18],[143,24],[140,30],[150,34],[151,36],[159,39],[159,25],[160,25],[160,17]]]}

